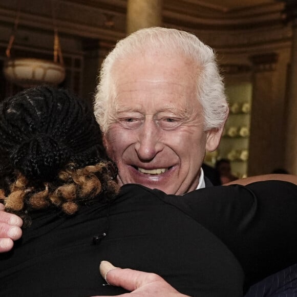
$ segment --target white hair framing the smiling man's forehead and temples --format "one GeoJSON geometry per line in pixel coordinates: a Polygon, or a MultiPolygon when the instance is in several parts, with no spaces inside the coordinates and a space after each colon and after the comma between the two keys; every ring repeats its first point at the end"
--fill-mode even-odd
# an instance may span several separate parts
{"type": "MultiPolygon", "coordinates": [[[[224,84],[218,70],[214,51],[204,45],[194,34],[185,31],[161,27],[138,30],[121,39],[115,48],[105,57],[99,75],[99,84],[95,94],[94,113],[103,133],[111,123],[109,102],[115,100],[115,82],[112,71],[116,61],[128,56],[164,53],[183,54],[197,65],[197,100],[202,105],[204,130],[221,128],[228,115],[228,103],[224,93],[224,84]]],[[[130,59],[133,62],[133,59],[130,59]]]]}

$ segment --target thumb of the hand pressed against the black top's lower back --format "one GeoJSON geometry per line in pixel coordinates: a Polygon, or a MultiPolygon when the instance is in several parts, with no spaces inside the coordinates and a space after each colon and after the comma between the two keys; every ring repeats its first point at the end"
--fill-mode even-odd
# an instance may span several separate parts
{"type": "Polygon", "coordinates": [[[100,273],[110,285],[122,287],[128,291],[134,291],[152,282],[163,281],[157,274],[117,268],[108,261],[100,263],[100,273]]]}

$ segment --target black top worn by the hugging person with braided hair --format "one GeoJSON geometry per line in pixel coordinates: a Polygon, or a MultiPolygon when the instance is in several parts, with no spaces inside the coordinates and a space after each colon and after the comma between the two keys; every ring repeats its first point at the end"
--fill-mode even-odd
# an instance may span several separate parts
{"type": "Polygon", "coordinates": [[[0,254],[0,295],[125,292],[102,285],[99,263],[107,260],[160,274],[191,296],[242,296],[244,274],[248,286],[296,262],[296,212],[297,186],[287,182],[218,186],[182,197],[125,185],[109,206],[95,201],[74,216],[33,213],[15,248],[0,254]]]}

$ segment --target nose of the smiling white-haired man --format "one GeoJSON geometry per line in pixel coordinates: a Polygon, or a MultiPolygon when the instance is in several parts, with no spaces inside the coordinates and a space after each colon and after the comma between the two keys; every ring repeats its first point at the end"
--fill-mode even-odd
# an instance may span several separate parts
{"type": "Polygon", "coordinates": [[[145,120],[139,129],[138,141],[135,143],[135,151],[139,160],[147,162],[163,150],[160,140],[160,128],[153,120],[145,120]]]}

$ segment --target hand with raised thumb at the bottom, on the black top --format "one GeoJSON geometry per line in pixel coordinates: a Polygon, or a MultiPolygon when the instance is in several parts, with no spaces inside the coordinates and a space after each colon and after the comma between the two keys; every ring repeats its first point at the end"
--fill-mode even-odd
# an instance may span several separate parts
{"type": "Polygon", "coordinates": [[[100,273],[110,285],[132,291],[131,293],[117,295],[117,297],[128,297],[129,295],[131,295],[131,297],[186,297],[186,295],[179,293],[155,273],[142,272],[128,268],[121,269],[107,261],[100,263],[100,273]]]}

